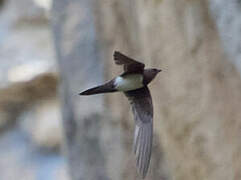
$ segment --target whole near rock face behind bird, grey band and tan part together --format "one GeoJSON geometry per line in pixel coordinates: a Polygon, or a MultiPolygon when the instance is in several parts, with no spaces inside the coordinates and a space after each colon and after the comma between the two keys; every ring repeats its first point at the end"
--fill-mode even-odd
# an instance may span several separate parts
{"type": "Polygon", "coordinates": [[[110,79],[122,71],[112,61],[114,50],[163,70],[150,85],[155,137],[146,179],[241,179],[241,81],[224,53],[208,1],[56,0],[53,5],[73,179],[139,178],[127,99],[121,94],[88,100],[71,96],[102,81],[102,74],[110,79]],[[99,52],[93,46],[101,57],[93,57],[99,52]],[[97,161],[91,166],[93,157],[97,161]]]}

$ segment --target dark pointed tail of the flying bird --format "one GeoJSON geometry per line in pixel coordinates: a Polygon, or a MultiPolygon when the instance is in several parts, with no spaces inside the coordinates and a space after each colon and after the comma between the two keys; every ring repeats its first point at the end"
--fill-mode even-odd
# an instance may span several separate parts
{"type": "Polygon", "coordinates": [[[93,94],[100,94],[100,93],[109,93],[109,92],[116,92],[117,90],[113,86],[112,82],[108,82],[106,84],[96,86],[86,91],[79,93],[79,95],[93,95],[93,94]]]}

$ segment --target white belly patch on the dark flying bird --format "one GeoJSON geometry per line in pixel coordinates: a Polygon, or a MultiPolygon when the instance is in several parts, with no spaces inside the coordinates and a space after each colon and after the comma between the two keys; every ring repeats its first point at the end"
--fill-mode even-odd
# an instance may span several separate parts
{"type": "Polygon", "coordinates": [[[143,76],[130,74],[125,77],[118,76],[115,79],[115,86],[118,91],[131,91],[143,87],[143,76]]]}

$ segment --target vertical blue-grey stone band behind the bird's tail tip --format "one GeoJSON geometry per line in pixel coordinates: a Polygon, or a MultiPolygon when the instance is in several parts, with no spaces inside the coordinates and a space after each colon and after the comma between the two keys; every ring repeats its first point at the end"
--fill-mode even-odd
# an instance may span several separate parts
{"type": "Polygon", "coordinates": [[[109,179],[101,147],[102,96],[78,93],[103,81],[93,1],[54,0],[52,27],[62,83],[63,128],[72,179],[109,179]]]}

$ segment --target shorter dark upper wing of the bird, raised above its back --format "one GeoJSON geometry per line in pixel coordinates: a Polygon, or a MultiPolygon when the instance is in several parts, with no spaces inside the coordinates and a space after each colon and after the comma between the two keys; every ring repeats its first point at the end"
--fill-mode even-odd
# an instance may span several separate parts
{"type": "Polygon", "coordinates": [[[145,64],[131,59],[118,51],[115,51],[113,56],[117,65],[124,65],[125,72],[142,73],[144,70],[145,64]]]}

